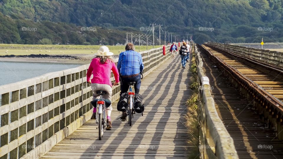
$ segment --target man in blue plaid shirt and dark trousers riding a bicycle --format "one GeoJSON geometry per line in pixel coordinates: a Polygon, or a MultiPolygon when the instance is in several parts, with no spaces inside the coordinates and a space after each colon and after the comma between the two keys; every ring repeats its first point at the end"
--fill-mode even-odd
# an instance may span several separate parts
{"type": "MultiPolygon", "coordinates": [[[[128,82],[136,82],[134,84],[135,94],[139,94],[139,88],[141,86],[141,74],[144,69],[141,54],[135,51],[134,44],[126,44],[124,52],[119,54],[119,61],[117,68],[121,78],[121,95],[126,93],[129,89],[128,82]]],[[[121,120],[125,121],[127,117],[126,109],[123,111],[121,120]]]]}

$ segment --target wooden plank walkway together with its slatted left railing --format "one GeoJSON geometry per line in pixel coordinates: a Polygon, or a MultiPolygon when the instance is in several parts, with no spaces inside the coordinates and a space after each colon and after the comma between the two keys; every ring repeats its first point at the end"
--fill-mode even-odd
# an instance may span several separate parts
{"type": "MultiPolygon", "coordinates": [[[[180,57],[164,56],[162,48],[141,55],[144,116],[135,114],[132,126],[116,120],[121,112],[114,102],[113,129],[102,140],[95,121],[89,120],[88,65],[0,86],[1,158],[186,158],[189,69],[181,67],[180,57]]],[[[119,86],[114,86],[112,99],[118,97],[119,86]]]]}

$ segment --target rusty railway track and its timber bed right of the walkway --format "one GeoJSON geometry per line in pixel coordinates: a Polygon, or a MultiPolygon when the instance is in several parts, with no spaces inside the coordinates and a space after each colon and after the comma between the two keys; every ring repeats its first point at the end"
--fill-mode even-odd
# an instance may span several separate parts
{"type": "Polygon", "coordinates": [[[283,133],[281,74],[275,74],[272,68],[262,71],[262,65],[248,63],[249,60],[213,47],[199,49],[215,108],[234,140],[239,158],[283,158],[282,139],[278,139],[283,133]],[[248,79],[236,78],[232,72],[248,79]]]}

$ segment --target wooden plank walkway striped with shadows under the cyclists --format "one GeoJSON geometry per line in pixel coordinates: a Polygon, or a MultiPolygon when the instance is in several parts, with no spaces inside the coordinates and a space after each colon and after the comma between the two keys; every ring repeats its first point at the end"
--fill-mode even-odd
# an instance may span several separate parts
{"type": "Polygon", "coordinates": [[[113,129],[98,140],[98,126],[89,120],[55,145],[42,158],[187,158],[184,115],[191,94],[189,66],[180,56],[168,59],[142,80],[144,116],[135,114],[132,126],[116,120],[121,115],[113,103],[113,129]]]}

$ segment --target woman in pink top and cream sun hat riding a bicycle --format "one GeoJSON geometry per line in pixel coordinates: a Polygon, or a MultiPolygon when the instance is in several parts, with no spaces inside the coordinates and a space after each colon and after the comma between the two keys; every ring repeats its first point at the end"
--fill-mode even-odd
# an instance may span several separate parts
{"type": "MultiPolygon", "coordinates": [[[[115,77],[115,82],[113,85],[119,85],[119,73],[118,69],[113,62],[111,56],[113,55],[112,52],[109,51],[108,47],[102,46],[99,48],[97,53],[95,53],[96,57],[91,60],[91,64],[89,65],[88,72],[86,74],[86,80],[91,83],[91,89],[93,91],[93,100],[99,98],[100,95],[96,94],[98,90],[104,90],[107,94],[103,95],[105,100],[111,101],[112,96],[112,84],[111,84],[111,70],[115,77]],[[93,74],[93,78],[91,78],[91,74],[93,74]]],[[[107,125],[108,127],[106,130],[111,130],[111,111],[112,106],[110,105],[106,108],[106,115],[107,115],[107,125]]],[[[91,119],[96,119],[96,107],[93,107],[93,114],[91,119]]]]}

